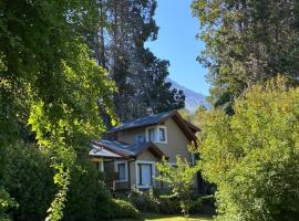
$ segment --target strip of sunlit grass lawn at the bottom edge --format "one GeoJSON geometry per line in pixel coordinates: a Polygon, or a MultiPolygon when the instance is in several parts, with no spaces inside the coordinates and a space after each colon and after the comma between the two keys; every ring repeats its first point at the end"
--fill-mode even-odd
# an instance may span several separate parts
{"type": "MultiPolygon", "coordinates": [[[[121,219],[115,221],[186,221],[183,215],[167,215],[167,214],[155,214],[155,213],[142,213],[141,218],[137,220],[121,219]]],[[[188,221],[210,221],[212,217],[207,215],[190,215],[188,221]]]]}

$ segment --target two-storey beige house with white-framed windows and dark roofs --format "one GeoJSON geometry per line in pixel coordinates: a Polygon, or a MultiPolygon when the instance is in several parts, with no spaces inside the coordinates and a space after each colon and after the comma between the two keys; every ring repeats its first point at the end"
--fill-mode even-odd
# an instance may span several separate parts
{"type": "MultiPolygon", "coordinates": [[[[153,177],[156,162],[165,157],[173,166],[176,156],[195,164],[188,145],[199,128],[186,122],[177,110],[148,115],[122,123],[107,131],[109,139],[93,140],[90,156],[104,171],[114,190],[163,188],[153,177]]],[[[195,188],[198,180],[195,178],[195,188]]]]}

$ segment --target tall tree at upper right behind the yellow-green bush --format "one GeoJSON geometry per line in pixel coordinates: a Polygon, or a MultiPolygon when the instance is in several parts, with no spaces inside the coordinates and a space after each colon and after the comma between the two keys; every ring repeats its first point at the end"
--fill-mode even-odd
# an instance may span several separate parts
{"type": "Polygon", "coordinates": [[[285,75],[298,85],[297,1],[194,0],[206,49],[210,102],[233,114],[234,98],[256,83],[285,75]]]}

